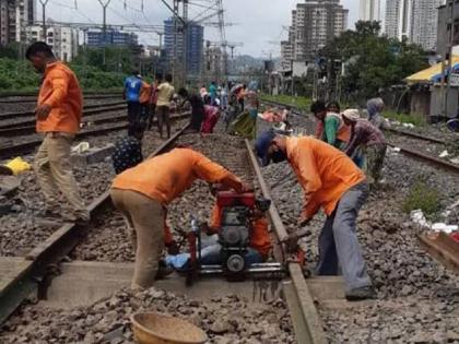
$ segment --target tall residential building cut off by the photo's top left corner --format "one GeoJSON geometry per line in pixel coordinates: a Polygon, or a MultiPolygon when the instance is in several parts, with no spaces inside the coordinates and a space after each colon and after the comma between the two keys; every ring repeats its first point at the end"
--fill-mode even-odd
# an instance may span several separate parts
{"type": "Polygon", "coordinates": [[[25,40],[25,27],[34,24],[36,0],[0,0],[0,45],[25,40]]]}

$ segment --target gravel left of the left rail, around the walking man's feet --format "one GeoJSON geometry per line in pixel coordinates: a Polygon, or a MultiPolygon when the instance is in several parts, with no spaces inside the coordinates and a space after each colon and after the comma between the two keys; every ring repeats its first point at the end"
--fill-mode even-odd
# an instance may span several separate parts
{"type": "MultiPolygon", "coordinates": [[[[181,128],[180,126],[184,126],[185,122],[186,120],[178,121],[176,123],[177,128],[181,128]]],[[[92,146],[105,146],[109,142],[115,142],[119,135],[121,135],[119,132],[116,134],[111,133],[110,135],[97,137],[89,141],[92,146]]],[[[153,152],[161,142],[155,131],[148,132],[144,139],[144,152],[153,152]]],[[[25,159],[32,163],[33,155],[25,156],[25,159]]],[[[80,193],[86,204],[90,204],[95,198],[105,192],[115,177],[109,159],[86,167],[74,166],[73,170],[79,182],[80,193]]],[[[50,222],[48,218],[43,217],[45,202],[39,192],[35,175],[28,171],[21,175],[20,178],[21,186],[17,195],[12,200],[5,200],[15,203],[15,212],[1,217],[3,225],[0,227],[0,237],[2,238],[0,241],[0,257],[21,257],[26,254],[62,224],[59,220],[50,222]]],[[[69,212],[66,204],[67,202],[62,199],[60,213],[69,212]]],[[[107,218],[111,221],[110,216],[107,216],[107,218]]],[[[98,220],[94,226],[105,227],[105,222],[101,221],[98,220]]],[[[115,238],[113,233],[108,237],[115,238]]],[[[116,240],[113,242],[119,244],[120,241],[116,240]]],[[[126,250],[126,254],[130,254],[130,250],[126,250]]]]}

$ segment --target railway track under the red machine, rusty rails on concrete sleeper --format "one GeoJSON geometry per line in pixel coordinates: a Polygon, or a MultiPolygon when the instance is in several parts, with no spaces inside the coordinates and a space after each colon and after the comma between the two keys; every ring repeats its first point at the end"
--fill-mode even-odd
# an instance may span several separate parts
{"type": "MultiPolygon", "coordinates": [[[[168,141],[164,142],[160,147],[157,147],[151,156],[166,152],[176,142],[188,143],[188,135],[184,135],[186,129],[187,127],[176,132],[168,141]]],[[[196,143],[198,151],[203,153],[213,152],[213,156],[211,156],[211,158],[216,159],[219,163],[223,164],[227,168],[231,168],[239,176],[244,176],[247,180],[251,180],[254,185],[256,185],[256,189],[259,190],[259,193],[266,198],[271,199],[270,190],[262,177],[257,158],[248,141],[240,140],[238,147],[244,147],[244,150],[242,150],[237,155],[232,155],[228,154],[232,150],[229,145],[224,147],[223,152],[215,152],[212,141],[210,141],[208,145],[205,145],[205,143],[202,143],[201,145],[201,143],[197,143],[196,140],[197,138],[193,137],[191,143],[196,143]]],[[[188,199],[190,197],[191,195],[186,194],[184,199],[188,199]]],[[[199,200],[189,199],[188,202],[193,203],[199,202],[199,200]]],[[[110,209],[108,191],[94,200],[94,202],[89,206],[89,210],[92,214],[92,217],[97,218],[97,216],[99,216],[99,214],[107,207],[110,209]]],[[[279,242],[279,240],[286,236],[286,230],[282,224],[275,204],[272,204],[269,210],[269,218],[271,222],[274,242],[279,242]]],[[[91,236],[91,233],[87,233],[87,236],[91,236]]],[[[25,254],[25,257],[0,260],[0,271],[7,272],[2,274],[0,280],[1,322],[8,319],[14,309],[21,305],[25,297],[31,293],[42,297],[47,295],[47,287],[50,284],[52,285],[51,281],[48,280],[49,266],[56,266],[56,264],[59,264],[61,259],[73,251],[74,248],[82,241],[82,239],[81,229],[79,229],[73,224],[66,224],[58,228],[47,240],[40,242],[37,247],[25,254]]],[[[281,250],[282,248],[279,246],[279,244],[276,244],[274,252],[279,253],[281,250]]],[[[274,256],[279,257],[279,254],[274,256]]],[[[115,269],[116,263],[111,263],[109,265],[110,269],[115,269]]],[[[122,269],[126,268],[122,264],[120,266],[122,266],[122,269]]],[[[327,343],[320,323],[320,318],[314,305],[314,298],[310,293],[309,285],[303,275],[302,266],[296,262],[290,262],[287,263],[287,271],[289,277],[283,280],[281,283],[273,281],[273,284],[270,288],[283,290],[292,318],[296,342],[301,344],[327,343]]],[[[248,288],[248,290],[244,290],[244,295],[249,295],[250,290],[255,290],[257,288],[259,289],[261,285],[257,285],[252,282],[243,284],[228,284],[227,282],[223,282],[223,280],[215,282],[216,283],[214,283],[213,286],[212,284],[205,284],[205,286],[211,289],[207,289],[204,287],[201,294],[224,293],[224,290],[233,293],[238,289],[248,288]],[[212,287],[214,290],[212,290],[212,287]]],[[[158,282],[160,287],[164,285],[172,290],[183,290],[184,287],[183,278],[176,277],[166,280],[163,284],[162,283],[163,282],[161,281],[158,282]]],[[[189,293],[195,294],[197,289],[202,288],[202,286],[199,285],[200,283],[201,282],[197,282],[197,286],[190,289],[189,293]]],[[[316,281],[316,283],[318,282],[316,281]]],[[[59,284],[59,282],[57,282],[57,284],[59,284]]],[[[266,288],[266,282],[263,288],[266,288]]],[[[187,293],[187,289],[185,289],[185,294],[187,293]]]]}

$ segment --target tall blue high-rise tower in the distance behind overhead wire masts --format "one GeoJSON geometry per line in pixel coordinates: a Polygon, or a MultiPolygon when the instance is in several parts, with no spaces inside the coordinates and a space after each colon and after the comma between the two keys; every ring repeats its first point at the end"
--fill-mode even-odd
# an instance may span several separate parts
{"type": "MultiPolygon", "coordinates": [[[[164,21],[164,50],[169,62],[184,61],[184,39],[183,34],[177,32],[174,37],[175,24],[173,19],[164,21]]],[[[187,57],[186,67],[188,74],[198,75],[201,71],[204,27],[197,24],[187,26],[187,57]]]]}

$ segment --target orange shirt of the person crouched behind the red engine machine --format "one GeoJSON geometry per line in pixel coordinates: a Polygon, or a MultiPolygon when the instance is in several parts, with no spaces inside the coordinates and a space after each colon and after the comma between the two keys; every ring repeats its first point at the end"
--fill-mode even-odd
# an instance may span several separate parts
{"type": "MultiPolygon", "coordinates": [[[[211,214],[211,230],[215,234],[219,233],[220,227],[222,226],[222,209],[219,204],[215,204],[211,214]]],[[[269,224],[268,220],[264,217],[257,218],[251,223],[251,233],[250,233],[250,244],[249,246],[252,249],[256,249],[263,259],[267,259],[269,252],[271,251],[272,244],[271,237],[269,235],[269,224]]]]}

